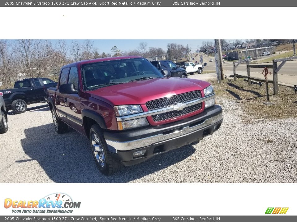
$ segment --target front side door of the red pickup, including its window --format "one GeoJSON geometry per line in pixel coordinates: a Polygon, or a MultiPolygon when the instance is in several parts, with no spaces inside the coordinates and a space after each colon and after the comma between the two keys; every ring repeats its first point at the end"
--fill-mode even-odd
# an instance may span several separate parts
{"type": "MultiPolygon", "coordinates": [[[[75,89],[79,89],[78,70],[76,66],[70,67],[67,83],[72,83],[75,89]]],[[[80,130],[82,128],[82,117],[79,93],[64,94],[64,102],[67,123],[73,128],[80,130]]]]}

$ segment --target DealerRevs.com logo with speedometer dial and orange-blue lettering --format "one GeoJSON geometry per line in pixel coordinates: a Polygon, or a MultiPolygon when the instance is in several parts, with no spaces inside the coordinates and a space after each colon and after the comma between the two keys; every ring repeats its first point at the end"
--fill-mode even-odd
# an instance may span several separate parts
{"type": "Polygon", "coordinates": [[[6,198],[4,207],[12,208],[13,213],[72,213],[74,208],[80,208],[80,202],[72,201],[67,194],[54,193],[39,200],[6,198]]]}

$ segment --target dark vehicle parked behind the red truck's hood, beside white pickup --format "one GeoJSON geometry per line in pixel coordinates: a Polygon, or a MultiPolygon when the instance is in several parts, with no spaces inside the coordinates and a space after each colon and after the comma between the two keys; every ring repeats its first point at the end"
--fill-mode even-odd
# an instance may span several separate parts
{"type": "Polygon", "coordinates": [[[151,63],[160,71],[170,71],[171,77],[187,78],[187,71],[170,60],[153,61],[151,63]]]}

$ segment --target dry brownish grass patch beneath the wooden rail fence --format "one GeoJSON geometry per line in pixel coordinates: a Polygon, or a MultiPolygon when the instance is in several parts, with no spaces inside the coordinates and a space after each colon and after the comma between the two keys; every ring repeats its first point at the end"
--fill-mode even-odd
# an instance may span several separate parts
{"type": "Polygon", "coordinates": [[[225,97],[234,102],[242,104],[244,112],[250,116],[249,119],[286,119],[297,117],[297,96],[292,88],[278,86],[278,95],[273,95],[273,84],[268,84],[269,102],[271,105],[263,104],[266,102],[265,83],[260,88],[259,85],[252,84],[243,78],[238,78],[236,82],[222,80],[218,84],[216,80],[211,80],[214,90],[218,97],[225,97]]]}

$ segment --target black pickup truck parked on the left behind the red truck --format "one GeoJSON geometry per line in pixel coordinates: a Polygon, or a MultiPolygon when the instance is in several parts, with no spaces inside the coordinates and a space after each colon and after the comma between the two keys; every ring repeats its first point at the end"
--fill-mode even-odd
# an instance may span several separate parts
{"type": "Polygon", "coordinates": [[[6,113],[11,109],[14,113],[24,113],[27,110],[27,104],[46,101],[45,84],[57,85],[48,78],[32,78],[16,81],[11,89],[0,90],[3,93],[6,113]]]}

